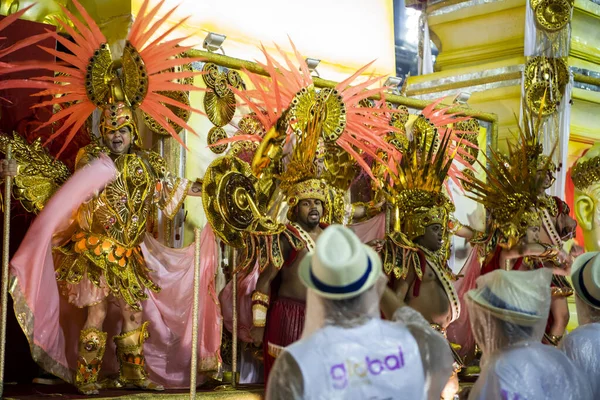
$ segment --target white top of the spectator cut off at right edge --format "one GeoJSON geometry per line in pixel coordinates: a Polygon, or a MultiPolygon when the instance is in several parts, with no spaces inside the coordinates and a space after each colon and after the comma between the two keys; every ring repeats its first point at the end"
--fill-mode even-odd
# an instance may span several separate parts
{"type": "Polygon", "coordinates": [[[594,399],[600,399],[600,323],[582,325],[564,337],[560,348],[587,373],[594,399]]]}

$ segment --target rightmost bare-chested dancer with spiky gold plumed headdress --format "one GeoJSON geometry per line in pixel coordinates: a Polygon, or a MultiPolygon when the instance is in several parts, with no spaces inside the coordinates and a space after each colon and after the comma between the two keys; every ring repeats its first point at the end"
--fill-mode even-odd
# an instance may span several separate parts
{"type": "Polygon", "coordinates": [[[554,270],[545,340],[556,345],[569,320],[566,296],[572,294],[564,279],[572,257],[563,249],[563,240],[573,237],[576,223],[564,201],[545,193],[553,183],[556,167],[542,154],[540,119],[534,121],[527,111],[525,116],[519,142],[509,146],[508,156],[492,152],[484,167],[486,181],[470,177],[465,184],[492,219],[493,240],[482,275],[499,268],[545,266],[554,270]]]}

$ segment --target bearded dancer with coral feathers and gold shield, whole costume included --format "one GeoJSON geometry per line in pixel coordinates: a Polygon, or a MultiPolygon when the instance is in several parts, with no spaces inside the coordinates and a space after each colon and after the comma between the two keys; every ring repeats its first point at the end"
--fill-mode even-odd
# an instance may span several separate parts
{"type": "MultiPolygon", "coordinates": [[[[263,137],[238,135],[224,140],[259,143],[251,171],[243,167],[240,160],[227,162],[228,166],[239,166],[235,168],[250,181],[246,193],[255,193],[250,197],[254,204],[251,208],[256,209],[256,222],[244,229],[242,245],[231,240],[235,235],[219,233],[219,226],[224,226],[224,231],[235,227],[231,216],[240,212],[219,213],[229,207],[223,201],[214,207],[211,203],[205,204],[215,231],[231,245],[242,248],[238,268],[243,271],[240,286],[244,287],[246,283],[248,287],[255,286],[251,299],[248,299],[252,301],[252,315],[242,314],[240,325],[243,340],[263,343],[265,380],[281,348],[298,340],[302,333],[306,288],[297,275],[300,260],[313,250],[314,241],[326,223],[362,218],[377,209],[377,204],[346,204],[333,192],[346,193],[360,167],[371,174],[364,157],[379,159],[379,149],[394,151],[383,140],[384,135],[393,130],[389,126],[389,117],[379,109],[359,104],[373,94],[383,94],[383,88],[366,90],[380,78],[350,86],[368,66],[335,88],[317,89],[304,57],[297,51],[294,61],[283,52],[281,55],[287,67],[265,52],[267,62],[263,66],[270,77],[250,74],[256,89],[235,90],[254,112],[266,134],[263,137]],[[319,148],[325,148],[325,151],[319,152],[319,148]],[[318,154],[323,157],[321,163],[317,160],[318,154]],[[248,173],[243,172],[245,169],[248,173]],[[267,213],[279,215],[281,207],[277,206],[283,200],[287,202],[289,223],[277,224],[270,220],[271,225],[266,229],[267,213]],[[215,214],[223,216],[214,217],[215,214]],[[220,222],[223,219],[225,224],[220,222]],[[248,276],[254,276],[255,280],[247,279],[246,282],[244,279],[248,276]]],[[[224,162],[215,161],[215,168],[211,166],[207,171],[203,189],[207,197],[213,188],[216,190],[225,185],[211,183],[218,170],[228,170],[217,168],[224,162]]],[[[225,172],[223,178],[215,180],[232,182],[226,176],[225,172]]],[[[233,193],[233,189],[230,192],[233,193]]],[[[250,295],[247,288],[241,290],[250,295]]],[[[229,297],[221,295],[224,314],[226,304],[231,301],[229,297]]],[[[244,310],[243,305],[240,308],[244,310]]]]}

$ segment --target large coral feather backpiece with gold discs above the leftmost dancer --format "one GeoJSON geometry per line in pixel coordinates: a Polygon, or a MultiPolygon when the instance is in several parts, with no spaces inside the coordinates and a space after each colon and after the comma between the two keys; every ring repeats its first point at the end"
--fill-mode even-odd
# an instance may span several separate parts
{"type": "Polygon", "coordinates": [[[192,112],[200,112],[189,105],[165,96],[165,91],[201,90],[193,85],[182,84],[176,80],[190,78],[200,72],[175,71],[179,65],[196,61],[192,58],[175,57],[189,47],[180,47],[185,38],[163,41],[184,21],[175,24],[167,32],[154,38],[161,24],[173,13],[171,9],[158,21],[152,20],[159,12],[163,2],[152,9],[149,0],[141,6],[128,36],[122,58],[114,62],[106,38],[98,25],[77,0],[73,4],[81,14],[83,21],[76,18],[65,7],[63,12],[73,21],[74,28],[57,20],[71,36],[72,41],[55,32],[49,32],[72,54],[52,48],[41,47],[62,61],[53,63],[29,63],[17,67],[19,70],[46,69],[57,73],[55,77],[39,77],[37,81],[45,83],[45,90],[37,96],[51,95],[52,99],[40,103],[37,107],[59,104],[62,110],[53,115],[44,126],[62,121],[62,126],[48,140],[66,134],[65,144],[59,154],[77,134],[87,118],[97,108],[108,104],[124,102],[132,109],[140,108],[152,117],[182,145],[169,121],[193,133],[194,130],[167,105],[192,112]]]}

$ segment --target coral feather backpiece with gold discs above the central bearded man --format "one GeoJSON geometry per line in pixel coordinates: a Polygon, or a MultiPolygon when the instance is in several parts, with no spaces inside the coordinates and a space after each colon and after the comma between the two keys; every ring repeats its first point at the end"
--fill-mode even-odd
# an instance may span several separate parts
{"type": "MultiPolygon", "coordinates": [[[[292,156],[287,168],[279,176],[284,186],[292,185],[307,176],[314,176],[314,159],[321,142],[342,148],[373,177],[370,165],[364,158],[368,156],[379,159],[377,151],[380,149],[396,152],[384,140],[385,135],[393,130],[389,117],[380,109],[360,105],[361,100],[375,94],[383,97],[384,88],[367,89],[381,78],[370,78],[351,86],[368,69],[370,63],[335,88],[317,89],[304,57],[293,43],[292,48],[294,60],[278,48],[283,60],[280,63],[263,47],[266,62],[260,65],[270,76],[245,71],[254,89],[242,91],[232,88],[241,102],[261,122],[265,136],[237,135],[218,143],[258,141],[264,149],[268,146],[267,141],[282,143],[293,138],[292,156]]],[[[263,163],[255,163],[257,165],[264,166],[263,163]]],[[[260,174],[259,169],[255,168],[255,173],[260,174]]]]}

